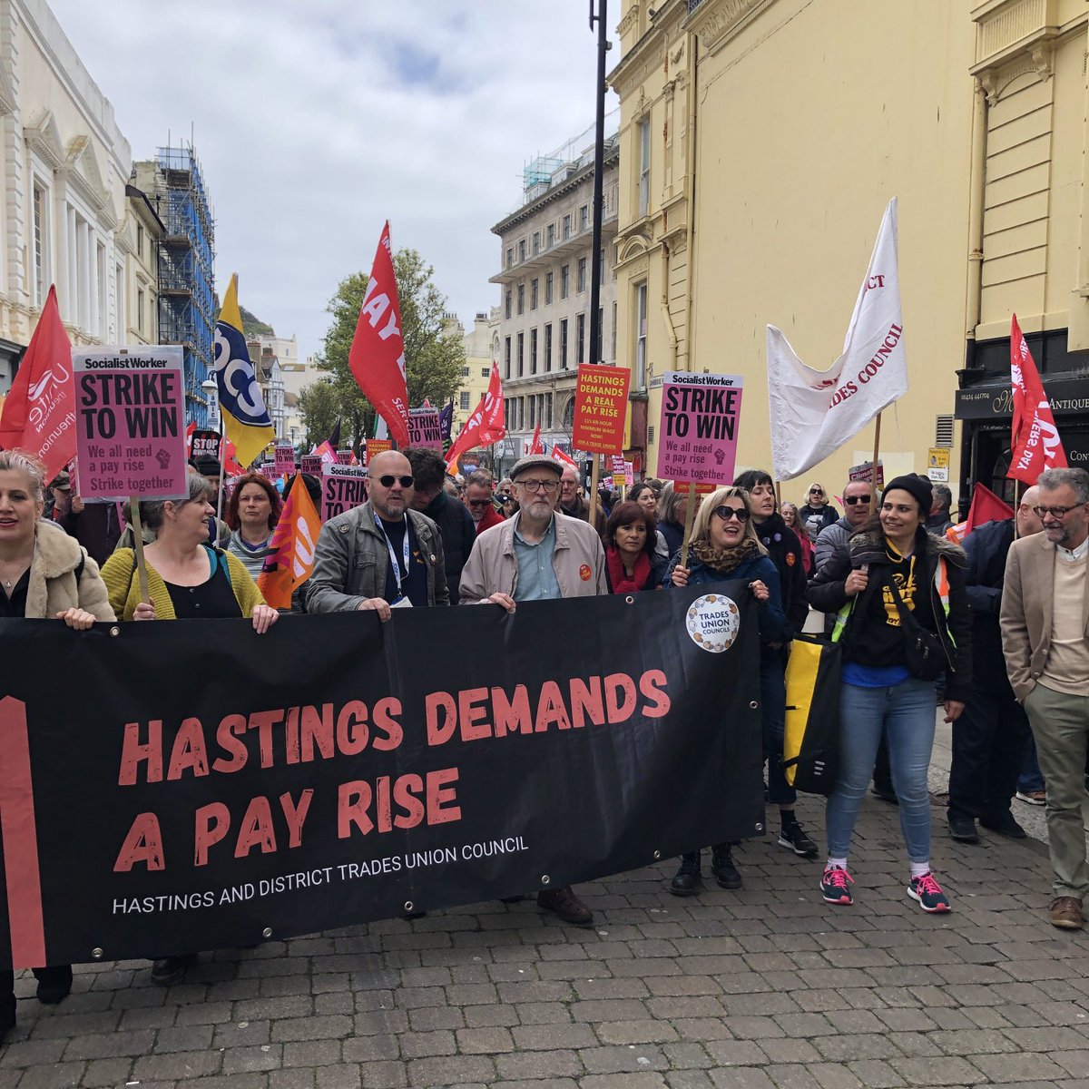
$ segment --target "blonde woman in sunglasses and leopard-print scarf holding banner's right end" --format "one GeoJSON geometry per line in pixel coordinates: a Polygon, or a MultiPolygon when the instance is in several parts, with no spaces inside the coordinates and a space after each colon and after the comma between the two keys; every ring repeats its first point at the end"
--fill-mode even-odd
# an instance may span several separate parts
{"type": "MultiPolygon", "coordinates": [[[[767,549],[757,539],[749,516],[748,493],[742,488],[720,488],[708,495],[696,514],[692,530],[689,566],[681,566],[677,553],[670,562],[668,586],[701,586],[726,579],[749,580],[752,597],[760,602],[760,643],[778,650],[790,637],[783,615],[779,589],[779,572],[768,559],[767,549]]],[[[764,665],[761,654],[761,687],[764,665]]],[[[779,673],[782,686],[782,666],[774,662],[770,668],[779,673]]],[[[780,769],[779,774],[782,774],[780,769]]],[[[699,851],[681,856],[670,892],[675,896],[690,896],[700,881],[699,851]]],[[[719,843],[711,848],[711,872],[723,889],[739,889],[742,876],[734,866],[731,844],[719,843]]]]}

